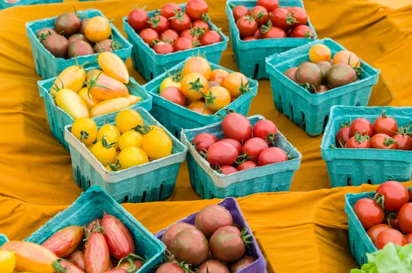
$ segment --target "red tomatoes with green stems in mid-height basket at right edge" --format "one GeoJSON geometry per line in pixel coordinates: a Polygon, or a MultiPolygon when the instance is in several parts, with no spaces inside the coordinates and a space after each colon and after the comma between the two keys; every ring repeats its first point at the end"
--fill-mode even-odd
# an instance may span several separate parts
{"type": "Polygon", "coordinates": [[[412,151],[411,123],[398,128],[396,120],[388,117],[385,110],[374,125],[363,117],[340,125],[341,129],[335,136],[336,147],[412,151]]]}

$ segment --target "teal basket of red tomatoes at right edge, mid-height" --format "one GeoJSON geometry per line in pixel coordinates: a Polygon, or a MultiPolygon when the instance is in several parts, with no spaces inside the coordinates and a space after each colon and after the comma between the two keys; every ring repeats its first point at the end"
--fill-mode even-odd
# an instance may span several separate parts
{"type": "Polygon", "coordinates": [[[408,107],[332,107],[321,144],[332,187],[411,180],[412,151],[332,147],[336,146],[335,136],[341,128],[339,122],[364,117],[373,124],[382,110],[396,119],[398,126],[407,126],[412,119],[412,108],[408,107]]]}

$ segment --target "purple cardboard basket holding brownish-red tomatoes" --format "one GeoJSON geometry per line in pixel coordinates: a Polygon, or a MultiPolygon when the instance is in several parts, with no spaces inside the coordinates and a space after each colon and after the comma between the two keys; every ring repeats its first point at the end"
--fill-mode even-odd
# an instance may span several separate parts
{"type": "MultiPolygon", "coordinates": [[[[266,260],[263,257],[262,252],[260,251],[258,242],[255,239],[255,236],[251,232],[251,228],[249,228],[249,225],[246,222],[246,219],[244,219],[242,215],[242,211],[240,210],[239,204],[236,201],[235,198],[225,198],[222,202],[219,203],[220,206],[225,207],[230,214],[233,217],[233,223],[238,224],[241,228],[247,228],[247,234],[252,235],[252,245],[250,246],[250,250],[247,250],[247,254],[251,255],[252,257],[258,258],[255,262],[251,263],[248,265],[246,268],[243,268],[242,270],[236,272],[236,273],[267,273],[266,271],[266,260]]],[[[192,224],[194,225],[194,219],[196,218],[196,215],[198,213],[193,213],[183,219],[180,219],[179,222],[184,222],[187,224],[192,224]]],[[[155,234],[155,237],[157,239],[161,240],[161,237],[163,237],[163,233],[170,228],[168,226],[167,228],[160,230],[158,233],[155,234]]],[[[212,272],[211,272],[212,273],[212,272]]]]}

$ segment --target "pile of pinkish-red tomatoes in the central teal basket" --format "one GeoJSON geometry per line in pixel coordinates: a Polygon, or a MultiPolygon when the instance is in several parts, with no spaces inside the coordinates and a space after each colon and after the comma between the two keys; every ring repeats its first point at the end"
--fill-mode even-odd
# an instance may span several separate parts
{"type": "Polygon", "coordinates": [[[247,117],[236,112],[222,121],[225,139],[201,133],[192,140],[195,149],[220,174],[233,174],[245,169],[288,161],[288,154],[275,146],[275,123],[263,119],[251,126],[247,117]]]}

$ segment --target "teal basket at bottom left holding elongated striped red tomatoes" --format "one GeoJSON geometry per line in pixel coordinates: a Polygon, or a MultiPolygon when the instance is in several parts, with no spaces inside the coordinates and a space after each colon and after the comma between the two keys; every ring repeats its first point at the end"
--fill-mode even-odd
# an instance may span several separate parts
{"type": "Polygon", "coordinates": [[[66,226],[85,226],[93,219],[102,218],[104,212],[122,221],[135,242],[135,254],[146,259],[146,263],[137,270],[137,273],[149,272],[152,267],[160,263],[166,249],[165,245],[98,186],[82,193],[71,206],[50,219],[45,226],[39,228],[25,241],[43,244],[58,230],[66,226]]]}

